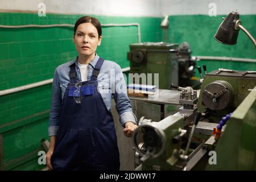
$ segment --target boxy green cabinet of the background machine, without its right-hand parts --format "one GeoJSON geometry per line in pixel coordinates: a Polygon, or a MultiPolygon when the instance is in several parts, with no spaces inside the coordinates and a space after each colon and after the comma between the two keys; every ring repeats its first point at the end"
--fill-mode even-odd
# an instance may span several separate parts
{"type": "MultiPolygon", "coordinates": [[[[154,73],[159,74],[159,88],[170,89],[170,85],[179,84],[179,61],[176,55],[178,44],[171,43],[135,43],[130,44],[128,59],[130,60],[130,73],[152,73],[150,81],[144,84],[157,85],[154,82],[154,73]],[[152,81],[152,82],[151,82],[152,81]]],[[[135,76],[134,76],[135,77],[135,76]]],[[[142,78],[142,77],[141,77],[142,78]]],[[[134,83],[134,80],[130,83],[134,83]]],[[[143,84],[135,82],[137,84],[143,84]]]]}

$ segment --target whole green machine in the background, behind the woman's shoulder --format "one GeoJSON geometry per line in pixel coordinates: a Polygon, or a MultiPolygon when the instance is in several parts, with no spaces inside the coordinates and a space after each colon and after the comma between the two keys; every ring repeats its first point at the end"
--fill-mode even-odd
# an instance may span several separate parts
{"type": "MultiPolygon", "coordinates": [[[[199,81],[193,80],[197,60],[191,58],[191,49],[186,42],[180,45],[164,42],[130,44],[128,59],[130,73],[158,73],[159,89],[170,89],[171,83],[193,88],[199,85],[199,81]]],[[[130,83],[135,82],[130,80],[130,83]]],[[[155,85],[154,80],[136,84],[155,85]]]]}

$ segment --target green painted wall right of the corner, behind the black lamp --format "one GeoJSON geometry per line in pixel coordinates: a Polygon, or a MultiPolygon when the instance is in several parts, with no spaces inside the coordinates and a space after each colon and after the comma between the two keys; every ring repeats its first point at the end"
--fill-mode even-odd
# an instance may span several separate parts
{"type": "MultiPolygon", "coordinates": [[[[182,43],[188,42],[194,56],[225,56],[256,59],[256,51],[253,43],[247,35],[240,30],[237,44],[228,46],[218,43],[214,35],[222,22],[222,17],[218,15],[210,17],[208,15],[177,15],[169,17],[168,34],[163,34],[163,38],[168,42],[182,43]]],[[[256,15],[240,15],[242,25],[256,37],[256,15]]],[[[208,71],[218,68],[256,71],[256,63],[244,63],[234,61],[201,60],[198,65],[206,64],[208,71]]],[[[197,73],[197,72],[196,72],[197,73]]],[[[199,74],[196,74],[199,77],[199,74]]]]}

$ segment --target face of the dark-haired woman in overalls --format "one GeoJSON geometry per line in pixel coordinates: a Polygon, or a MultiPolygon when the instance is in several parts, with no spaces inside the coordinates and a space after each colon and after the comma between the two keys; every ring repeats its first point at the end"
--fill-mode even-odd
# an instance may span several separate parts
{"type": "Polygon", "coordinates": [[[92,23],[81,23],[73,35],[73,43],[79,55],[90,56],[100,46],[101,36],[98,37],[97,28],[92,23]]]}

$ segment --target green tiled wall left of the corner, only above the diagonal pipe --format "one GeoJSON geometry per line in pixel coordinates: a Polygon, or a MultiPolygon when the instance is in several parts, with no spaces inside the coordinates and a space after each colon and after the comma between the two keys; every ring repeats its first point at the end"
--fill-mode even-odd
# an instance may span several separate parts
{"type": "MultiPolygon", "coordinates": [[[[75,24],[82,15],[0,13],[0,24],[75,24]]],[[[96,16],[102,24],[140,23],[142,41],[156,42],[162,38],[159,18],[117,18],[96,16]]],[[[72,27],[0,28],[0,88],[16,86],[52,78],[57,65],[76,56],[72,42],[72,27]],[[8,73],[8,74],[7,74],[8,73]]],[[[138,41],[137,27],[103,27],[102,45],[98,55],[113,60],[122,68],[129,67],[129,44],[138,41]]]]}

